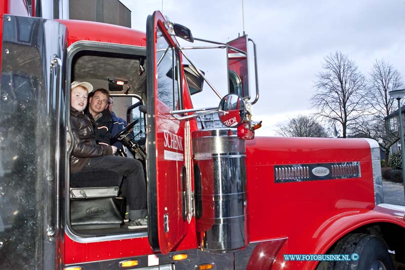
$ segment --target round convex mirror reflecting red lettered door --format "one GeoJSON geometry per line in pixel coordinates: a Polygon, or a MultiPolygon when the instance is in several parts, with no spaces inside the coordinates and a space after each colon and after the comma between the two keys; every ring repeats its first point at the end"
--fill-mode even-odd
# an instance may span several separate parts
{"type": "Polygon", "coordinates": [[[243,98],[236,94],[224,96],[219,103],[218,115],[222,124],[227,127],[237,127],[245,120],[246,105],[243,98]]]}

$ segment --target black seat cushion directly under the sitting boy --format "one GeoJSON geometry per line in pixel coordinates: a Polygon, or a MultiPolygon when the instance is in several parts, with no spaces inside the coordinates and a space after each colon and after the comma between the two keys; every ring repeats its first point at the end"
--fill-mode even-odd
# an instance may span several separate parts
{"type": "Polygon", "coordinates": [[[70,174],[70,187],[120,186],[123,175],[110,169],[83,170],[70,174]]]}

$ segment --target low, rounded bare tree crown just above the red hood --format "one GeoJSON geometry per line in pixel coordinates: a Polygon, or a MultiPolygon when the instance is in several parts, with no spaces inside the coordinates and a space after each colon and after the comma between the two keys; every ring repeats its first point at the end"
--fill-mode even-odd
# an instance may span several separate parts
{"type": "Polygon", "coordinates": [[[276,132],[285,137],[327,137],[325,128],[315,119],[305,115],[290,119],[288,124],[277,125],[276,132]]]}

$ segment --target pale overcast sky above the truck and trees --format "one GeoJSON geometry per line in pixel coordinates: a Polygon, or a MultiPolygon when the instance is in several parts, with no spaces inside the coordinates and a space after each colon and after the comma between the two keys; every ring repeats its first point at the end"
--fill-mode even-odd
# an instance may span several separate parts
{"type": "MultiPolygon", "coordinates": [[[[132,28],[142,31],[147,16],[162,10],[161,0],[120,1],[132,11],[132,28]]],[[[404,1],[244,0],[244,11],[245,31],[258,50],[260,98],[253,106],[253,120],[263,120],[259,136],[276,135],[276,123],[313,111],[309,99],[316,91],[315,76],[323,57],[337,50],[366,76],[377,58],[389,61],[405,76],[404,1]]],[[[209,40],[227,42],[243,31],[241,0],[164,0],[163,14],[209,40]]],[[[187,55],[225,94],[225,52],[187,51],[187,55]]],[[[195,107],[219,103],[209,92],[205,88],[193,96],[195,107]]]]}

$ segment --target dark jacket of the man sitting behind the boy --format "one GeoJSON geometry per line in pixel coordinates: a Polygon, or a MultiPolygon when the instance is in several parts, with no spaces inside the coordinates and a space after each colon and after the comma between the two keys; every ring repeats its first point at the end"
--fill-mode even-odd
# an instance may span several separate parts
{"type": "Polygon", "coordinates": [[[112,116],[108,109],[105,109],[102,112],[102,115],[99,119],[94,121],[92,114],[89,111],[89,108],[85,111],[86,115],[94,123],[94,135],[96,136],[96,141],[99,144],[111,144],[111,129],[112,129],[112,116]]]}

